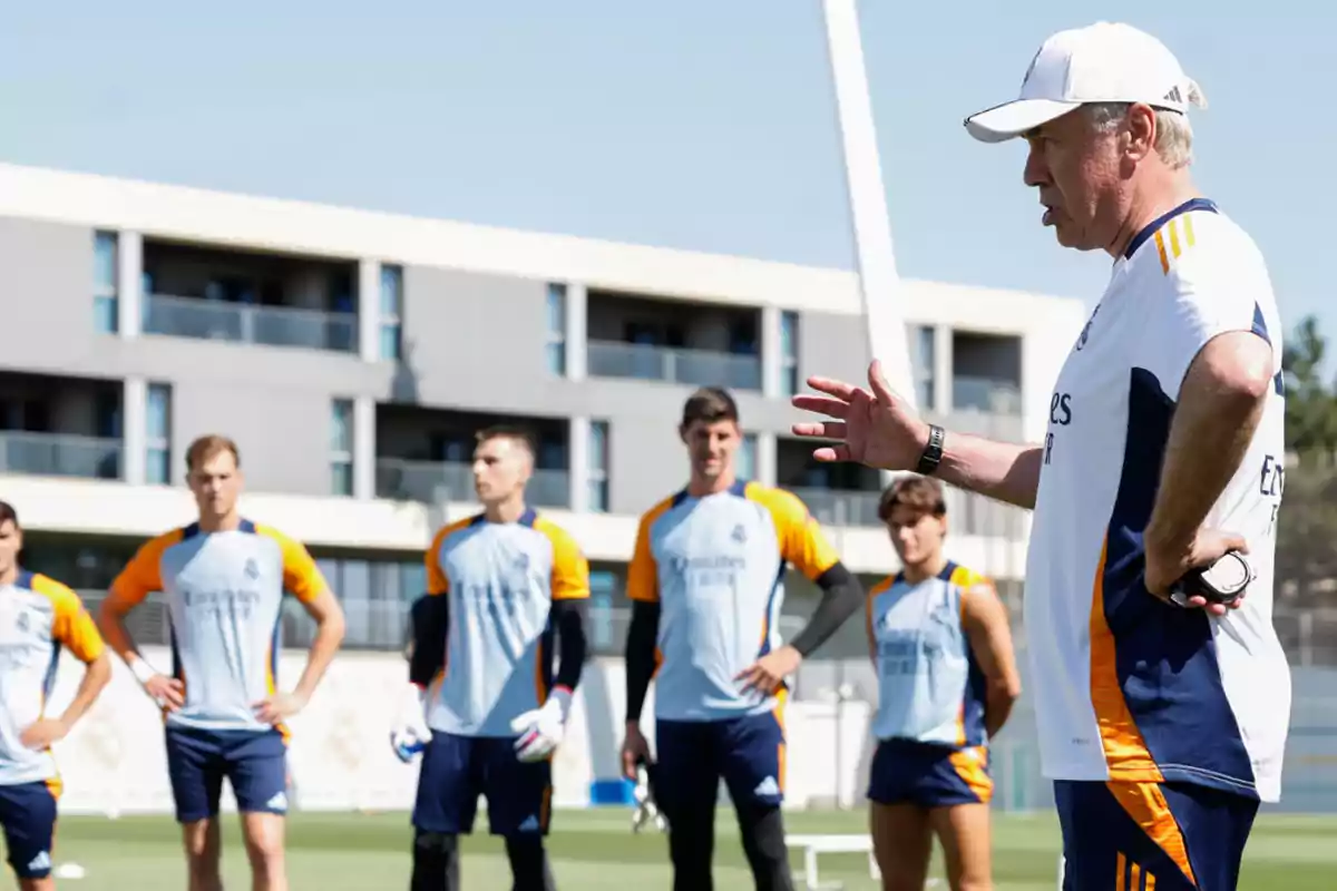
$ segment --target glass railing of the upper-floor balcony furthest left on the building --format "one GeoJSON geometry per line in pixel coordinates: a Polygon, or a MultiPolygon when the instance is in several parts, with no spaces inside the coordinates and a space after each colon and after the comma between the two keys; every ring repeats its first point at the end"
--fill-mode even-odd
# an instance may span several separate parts
{"type": "Polygon", "coordinates": [[[297,346],[309,350],[357,350],[357,315],[289,306],[249,306],[189,297],[146,294],[146,334],[203,341],[297,346]]]}

